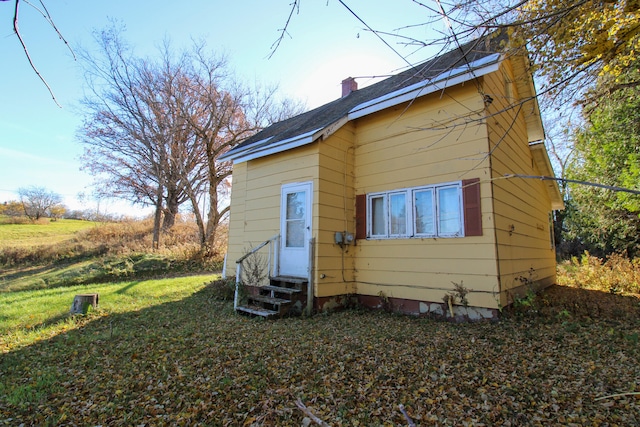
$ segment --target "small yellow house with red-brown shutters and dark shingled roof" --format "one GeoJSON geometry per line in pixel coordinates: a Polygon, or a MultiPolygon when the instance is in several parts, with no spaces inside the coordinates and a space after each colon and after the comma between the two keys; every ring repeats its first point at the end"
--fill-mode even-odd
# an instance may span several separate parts
{"type": "Polygon", "coordinates": [[[360,90],[346,79],[340,99],[224,155],[226,271],[263,243],[272,278],[245,311],[273,314],[299,292],[307,310],[492,318],[554,283],[550,215],[564,206],[555,181],[530,178],[553,171],[528,58],[505,41],[475,40],[360,90]]]}

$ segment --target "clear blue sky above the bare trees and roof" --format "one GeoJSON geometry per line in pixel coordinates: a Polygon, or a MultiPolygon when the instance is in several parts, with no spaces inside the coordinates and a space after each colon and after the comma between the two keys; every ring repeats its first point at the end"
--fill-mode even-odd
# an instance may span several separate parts
{"type": "MultiPolygon", "coordinates": [[[[405,65],[337,0],[301,1],[289,34],[268,59],[291,1],[44,0],[44,4],[72,47],[92,49],[92,31],[114,19],[126,26],[124,37],[140,56],[153,55],[165,38],[178,48],[188,47],[192,37],[202,38],[209,49],[228,56],[238,78],[277,84],[283,96],[300,99],[309,108],[338,98],[346,77],[388,75],[405,65]]],[[[410,0],[344,2],[382,31],[427,20],[424,9],[410,0]]],[[[12,21],[13,1],[0,2],[0,202],[17,199],[21,187],[43,186],[62,195],[70,208],[90,207],[76,199],[79,192],[90,193],[92,183],[92,177],[80,171],[82,146],[76,140],[83,114],[78,102],[83,94],[81,64],[42,16],[22,3],[20,32],[62,105],[58,107],[30,68],[13,35],[12,21]]],[[[412,31],[422,39],[437,37],[424,28],[412,31]]],[[[413,47],[394,39],[389,43],[402,55],[411,55],[412,62],[433,54],[412,54],[413,47]]],[[[374,81],[358,79],[360,87],[374,81]]],[[[121,203],[106,208],[120,213],[130,209],[121,203]]]]}

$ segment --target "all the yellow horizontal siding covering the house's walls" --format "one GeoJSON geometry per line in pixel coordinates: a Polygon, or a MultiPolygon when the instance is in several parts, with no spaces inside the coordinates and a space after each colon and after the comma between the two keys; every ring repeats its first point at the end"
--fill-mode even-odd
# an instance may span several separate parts
{"type": "Polygon", "coordinates": [[[313,144],[236,164],[228,269],[243,250],[279,232],[281,186],[313,181],[316,297],[382,293],[440,302],[457,283],[470,290],[471,306],[498,308],[510,302],[519,277],[555,280],[544,185],[500,179],[537,174],[523,112],[494,114],[517,96],[509,73],[506,63],[479,81],[349,122],[313,144]],[[485,93],[494,99],[488,109],[485,93]],[[334,243],[335,232],[355,234],[358,194],[470,178],[481,181],[482,236],[334,243]]]}

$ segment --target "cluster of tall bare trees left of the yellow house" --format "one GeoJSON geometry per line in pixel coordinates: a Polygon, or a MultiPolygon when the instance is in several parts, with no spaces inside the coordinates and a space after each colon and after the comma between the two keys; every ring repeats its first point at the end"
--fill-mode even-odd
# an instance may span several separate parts
{"type": "Polygon", "coordinates": [[[102,178],[102,191],[155,207],[155,245],[161,222],[170,228],[189,201],[203,249],[213,247],[229,209],[220,194],[231,174],[218,157],[301,109],[278,102],[275,89],[238,84],[226,60],[208,55],[203,43],[174,53],[165,42],[151,60],[135,57],[116,28],[97,41],[100,57],[82,53],[91,90],[80,131],[85,167],[102,178]]]}

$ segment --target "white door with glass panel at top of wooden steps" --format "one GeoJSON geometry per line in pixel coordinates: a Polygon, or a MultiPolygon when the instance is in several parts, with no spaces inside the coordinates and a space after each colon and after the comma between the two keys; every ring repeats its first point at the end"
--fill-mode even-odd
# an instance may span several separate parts
{"type": "Polygon", "coordinates": [[[280,275],[307,277],[311,239],[311,182],[285,184],[280,202],[280,275]]]}

